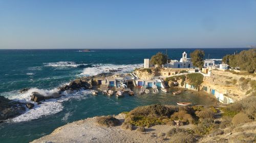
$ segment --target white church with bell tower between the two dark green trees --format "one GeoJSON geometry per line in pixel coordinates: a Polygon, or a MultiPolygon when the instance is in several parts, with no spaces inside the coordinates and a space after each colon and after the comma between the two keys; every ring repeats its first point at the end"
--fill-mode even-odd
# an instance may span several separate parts
{"type": "Polygon", "coordinates": [[[178,60],[170,60],[164,65],[166,68],[193,68],[193,64],[190,58],[187,58],[187,53],[184,51],[182,53],[182,58],[178,60]]]}

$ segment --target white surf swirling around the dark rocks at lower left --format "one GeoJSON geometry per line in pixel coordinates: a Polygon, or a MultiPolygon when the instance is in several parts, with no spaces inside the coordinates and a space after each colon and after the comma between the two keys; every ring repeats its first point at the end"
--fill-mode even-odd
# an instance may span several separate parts
{"type": "MultiPolygon", "coordinates": [[[[62,105],[63,101],[70,100],[71,98],[77,99],[77,100],[86,99],[88,97],[84,95],[91,94],[91,90],[80,90],[72,94],[68,92],[63,92],[62,94],[66,96],[62,96],[57,99],[48,99],[46,101],[42,101],[41,104],[37,105],[37,103],[30,100],[31,94],[33,92],[38,92],[44,96],[50,96],[51,94],[58,92],[58,89],[40,90],[40,89],[32,88],[28,90],[28,92],[23,94],[18,94],[17,91],[3,93],[3,95],[6,95],[6,97],[8,97],[9,99],[13,99],[23,103],[31,102],[35,105],[33,109],[26,108],[26,111],[24,114],[9,120],[9,122],[25,122],[25,121],[39,119],[44,116],[53,115],[63,109],[63,105],[62,105]]],[[[68,119],[68,115],[63,120],[65,119],[68,119]]]]}

